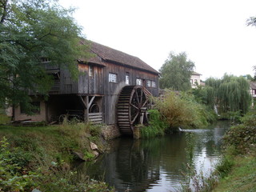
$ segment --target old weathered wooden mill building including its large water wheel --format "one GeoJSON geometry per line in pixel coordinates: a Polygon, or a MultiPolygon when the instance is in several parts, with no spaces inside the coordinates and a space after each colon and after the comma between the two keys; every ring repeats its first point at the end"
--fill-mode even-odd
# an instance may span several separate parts
{"type": "Polygon", "coordinates": [[[86,43],[95,56],[78,60],[78,81],[68,70],[44,61],[46,73],[54,76],[48,100],[31,94],[38,110],[27,116],[18,106],[14,120],[53,122],[68,114],[86,122],[118,125],[125,134],[131,134],[134,124],[143,122],[147,96],[158,96],[158,71],[137,57],[96,42],[86,43]]]}

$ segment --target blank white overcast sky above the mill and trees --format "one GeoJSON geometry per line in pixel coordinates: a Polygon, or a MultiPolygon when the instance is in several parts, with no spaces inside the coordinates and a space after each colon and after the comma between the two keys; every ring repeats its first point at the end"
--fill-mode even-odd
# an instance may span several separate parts
{"type": "Polygon", "coordinates": [[[77,10],[86,38],[134,55],[159,70],[186,52],[201,79],[254,75],[255,0],[59,0],[77,10]]]}

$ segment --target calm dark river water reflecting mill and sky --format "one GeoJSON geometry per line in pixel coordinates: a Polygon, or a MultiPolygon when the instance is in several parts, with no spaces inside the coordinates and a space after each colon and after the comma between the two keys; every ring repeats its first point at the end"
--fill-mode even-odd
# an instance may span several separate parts
{"type": "Polygon", "coordinates": [[[105,181],[117,191],[178,191],[187,182],[188,167],[206,177],[214,170],[229,127],[228,122],[216,122],[206,130],[114,139],[109,153],[94,163],[80,164],[78,172],[105,181]]]}

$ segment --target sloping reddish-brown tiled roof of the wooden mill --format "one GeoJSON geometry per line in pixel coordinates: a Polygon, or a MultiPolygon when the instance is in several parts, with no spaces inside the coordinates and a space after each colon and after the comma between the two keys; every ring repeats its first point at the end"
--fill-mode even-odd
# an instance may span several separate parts
{"type": "MultiPolygon", "coordinates": [[[[90,43],[90,50],[97,54],[97,57],[90,58],[87,62],[94,62],[96,64],[103,64],[99,58],[102,58],[103,61],[113,62],[123,66],[130,66],[139,70],[146,70],[154,74],[159,74],[157,70],[154,70],[151,66],[143,62],[140,58],[134,57],[130,54],[123,53],[119,50],[114,50],[108,46],[103,46],[97,42],[87,41],[90,43]]],[[[104,64],[103,64],[104,65],[104,64]]]]}

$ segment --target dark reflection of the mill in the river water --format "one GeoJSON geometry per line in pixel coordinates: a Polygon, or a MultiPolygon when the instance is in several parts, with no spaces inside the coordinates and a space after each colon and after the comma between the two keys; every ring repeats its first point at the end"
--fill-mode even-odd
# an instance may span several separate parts
{"type": "Polygon", "coordinates": [[[126,142],[122,138],[119,145],[120,148],[118,149],[120,150],[117,151],[116,166],[117,172],[122,173],[119,177],[122,180],[122,183],[120,183],[122,186],[117,188],[123,188],[123,191],[127,189],[145,191],[160,176],[159,166],[153,165],[150,158],[150,150],[142,147],[140,140],[126,142]]]}

